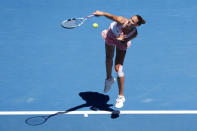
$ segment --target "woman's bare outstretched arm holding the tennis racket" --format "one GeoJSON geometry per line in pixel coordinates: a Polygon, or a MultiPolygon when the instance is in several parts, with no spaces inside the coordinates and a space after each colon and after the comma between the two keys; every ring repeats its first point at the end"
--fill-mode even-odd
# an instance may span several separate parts
{"type": "Polygon", "coordinates": [[[115,16],[115,15],[112,15],[110,13],[107,13],[107,12],[103,12],[103,11],[99,11],[97,10],[96,12],[93,13],[93,15],[95,16],[105,16],[113,21],[116,21],[120,24],[124,24],[126,21],[128,21],[127,18],[125,17],[122,17],[122,16],[115,16]]]}

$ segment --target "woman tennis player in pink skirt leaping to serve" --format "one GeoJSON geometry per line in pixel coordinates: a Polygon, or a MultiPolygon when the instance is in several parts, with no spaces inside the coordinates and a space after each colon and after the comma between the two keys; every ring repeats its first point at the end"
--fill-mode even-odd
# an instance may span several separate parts
{"type": "Polygon", "coordinates": [[[145,24],[146,21],[140,16],[135,15],[130,19],[122,16],[115,16],[106,12],[96,11],[93,13],[95,16],[105,16],[113,22],[108,29],[102,31],[102,37],[105,40],[106,50],[106,74],[104,92],[108,92],[111,85],[115,82],[115,78],[112,77],[113,57],[116,47],[115,57],[115,71],[117,73],[117,81],[119,88],[119,95],[116,99],[116,108],[122,108],[125,102],[123,93],[124,89],[124,72],[123,63],[127,48],[131,45],[131,40],[137,36],[137,27],[141,24],[145,24]]]}

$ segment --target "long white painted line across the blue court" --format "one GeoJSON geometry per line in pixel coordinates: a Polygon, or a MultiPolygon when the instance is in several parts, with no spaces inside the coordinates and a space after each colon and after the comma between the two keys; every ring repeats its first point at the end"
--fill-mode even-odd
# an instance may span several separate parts
{"type": "MultiPolygon", "coordinates": [[[[51,115],[63,111],[0,111],[0,115],[51,115]]],[[[109,111],[71,111],[65,115],[112,114],[109,111]]],[[[197,114],[197,110],[124,110],[120,114],[197,114]]]]}

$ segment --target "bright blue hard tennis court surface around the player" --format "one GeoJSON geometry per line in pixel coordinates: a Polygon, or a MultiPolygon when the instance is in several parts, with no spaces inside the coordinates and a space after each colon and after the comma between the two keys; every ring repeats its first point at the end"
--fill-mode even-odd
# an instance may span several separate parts
{"type": "MultiPolygon", "coordinates": [[[[103,92],[105,42],[101,32],[111,20],[92,17],[75,29],[60,26],[65,19],[85,17],[96,10],[127,18],[140,14],[147,21],[138,28],[139,35],[126,54],[126,102],[121,111],[197,110],[195,0],[1,0],[0,112],[65,111],[87,102],[80,93],[97,96],[88,100],[108,97],[104,108],[96,108],[98,111],[117,110],[117,83],[109,93],[103,92]],[[98,28],[92,27],[95,22],[98,28]]],[[[89,105],[75,111],[94,109],[89,105]]],[[[33,127],[24,122],[32,116],[35,115],[0,115],[0,130],[197,128],[196,114],[120,114],[116,119],[110,114],[92,114],[87,118],[57,115],[33,127]]]]}

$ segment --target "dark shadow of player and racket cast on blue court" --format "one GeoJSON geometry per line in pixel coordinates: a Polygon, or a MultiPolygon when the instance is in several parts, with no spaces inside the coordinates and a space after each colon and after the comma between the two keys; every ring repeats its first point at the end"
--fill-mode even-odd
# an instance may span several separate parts
{"type": "Polygon", "coordinates": [[[110,108],[113,106],[112,104],[107,104],[109,101],[109,96],[104,95],[98,92],[80,92],[79,96],[86,102],[85,104],[81,104],[75,107],[72,107],[68,110],[57,112],[55,114],[51,114],[48,116],[34,116],[27,118],[25,120],[25,123],[31,126],[37,126],[37,125],[42,125],[44,124],[49,118],[60,115],[60,114],[66,114],[72,111],[76,111],[78,109],[84,108],[84,107],[89,107],[91,110],[94,111],[109,111],[111,112],[111,118],[115,119],[119,117],[120,111],[118,110],[113,110],[110,108]]]}

